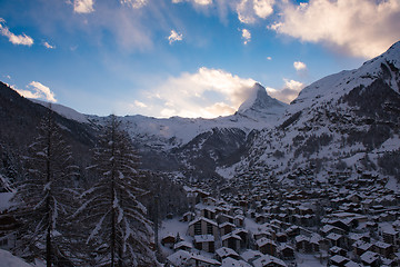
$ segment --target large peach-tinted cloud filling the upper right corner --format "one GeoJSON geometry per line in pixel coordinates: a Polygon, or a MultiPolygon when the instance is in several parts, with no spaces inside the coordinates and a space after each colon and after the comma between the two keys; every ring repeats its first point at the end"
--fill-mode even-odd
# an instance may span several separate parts
{"type": "Polygon", "coordinates": [[[400,39],[399,0],[286,1],[281,9],[271,30],[351,56],[376,57],[400,39]]]}

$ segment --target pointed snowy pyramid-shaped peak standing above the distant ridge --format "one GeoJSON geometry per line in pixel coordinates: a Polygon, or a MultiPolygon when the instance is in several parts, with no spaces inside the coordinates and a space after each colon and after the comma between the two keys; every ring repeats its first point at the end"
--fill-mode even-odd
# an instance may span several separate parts
{"type": "Polygon", "coordinates": [[[239,107],[238,112],[248,115],[256,113],[280,113],[286,103],[268,96],[267,90],[260,83],[256,82],[252,87],[250,97],[239,107]],[[278,111],[279,110],[279,111],[278,111]]]}

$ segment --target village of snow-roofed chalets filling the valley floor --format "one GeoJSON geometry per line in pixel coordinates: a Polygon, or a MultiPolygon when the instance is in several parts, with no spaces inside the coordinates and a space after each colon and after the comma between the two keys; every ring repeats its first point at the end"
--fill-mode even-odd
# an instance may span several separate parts
{"type": "Polygon", "coordinates": [[[400,191],[367,171],[239,175],[184,186],[190,210],[162,221],[166,266],[399,266],[400,191]]]}

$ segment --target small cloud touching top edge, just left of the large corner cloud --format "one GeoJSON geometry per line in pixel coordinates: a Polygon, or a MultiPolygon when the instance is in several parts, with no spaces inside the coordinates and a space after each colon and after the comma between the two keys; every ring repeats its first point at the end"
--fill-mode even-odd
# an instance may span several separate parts
{"type": "Polygon", "coordinates": [[[274,0],[241,0],[236,11],[242,23],[254,23],[258,18],[266,19],[273,13],[274,0]]]}

